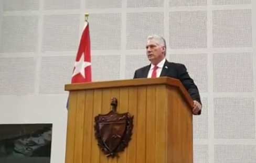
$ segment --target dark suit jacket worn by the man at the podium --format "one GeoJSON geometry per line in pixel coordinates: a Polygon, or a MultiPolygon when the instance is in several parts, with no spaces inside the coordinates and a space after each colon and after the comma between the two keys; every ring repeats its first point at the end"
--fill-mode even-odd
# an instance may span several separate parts
{"type": "MultiPolygon", "coordinates": [[[[150,71],[150,66],[151,65],[147,65],[137,69],[134,73],[134,78],[147,78],[148,71],[150,71]]],[[[179,79],[187,89],[191,98],[201,103],[198,88],[195,85],[194,80],[188,75],[187,68],[183,64],[165,61],[160,76],[168,76],[179,79]]]]}

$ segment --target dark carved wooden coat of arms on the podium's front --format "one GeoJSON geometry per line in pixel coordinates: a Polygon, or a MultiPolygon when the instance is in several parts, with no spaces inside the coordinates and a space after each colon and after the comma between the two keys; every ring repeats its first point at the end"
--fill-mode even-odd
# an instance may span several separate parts
{"type": "Polygon", "coordinates": [[[118,114],[116,98],[112,98],[112,110],[108,114],[95,117],[95,137],[107,157],[118,156],[128,145],[132,136],[133,116],[129,113],[118,114]]]}

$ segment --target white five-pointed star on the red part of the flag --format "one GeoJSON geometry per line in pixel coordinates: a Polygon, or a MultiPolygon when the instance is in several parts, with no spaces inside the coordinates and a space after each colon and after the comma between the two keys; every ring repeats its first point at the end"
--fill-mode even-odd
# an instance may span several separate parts
{"type": "Polygon", "coordinates": [[[83,76],[83,78],[86,78],[86,74],[84,73],[84,68],[90,65],[91,65],[90,62],[84,61],[84,53],[83,53],[80,57],[80,60],[74,63],[74,72],[72,74],[72,77],[80,73],[83,76]]]}

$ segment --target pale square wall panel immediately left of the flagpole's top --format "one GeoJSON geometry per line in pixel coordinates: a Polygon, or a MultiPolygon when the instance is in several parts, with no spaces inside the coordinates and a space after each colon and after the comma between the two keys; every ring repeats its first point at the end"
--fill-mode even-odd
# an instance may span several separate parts
{"type": "Polygon", "coordinates": [[[79,19],[76,14],[45,15],[42,31],[42,52],[76,51],[79,43],[79,19]]]}

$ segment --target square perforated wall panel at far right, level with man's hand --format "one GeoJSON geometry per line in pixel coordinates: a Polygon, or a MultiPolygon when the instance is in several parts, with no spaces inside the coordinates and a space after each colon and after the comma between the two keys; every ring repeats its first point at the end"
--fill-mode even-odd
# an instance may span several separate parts
{"type": "Polygon", "coordinates": [[[215,138],[255,138],[254,98],[214,98],[215,138]]]}

